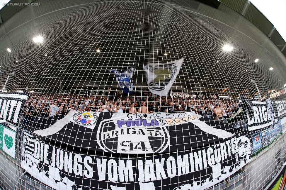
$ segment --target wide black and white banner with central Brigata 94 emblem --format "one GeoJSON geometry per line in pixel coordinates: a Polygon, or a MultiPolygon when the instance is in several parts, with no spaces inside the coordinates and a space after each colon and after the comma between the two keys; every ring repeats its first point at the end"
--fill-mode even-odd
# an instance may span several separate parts
{"type": "Polygon", "coordinates": [[[194,113],[110,114],[70,111],[28,129],[35,135],[94,151],[127,154],[173,152],[215,144],[237,128],[194,113]]]}

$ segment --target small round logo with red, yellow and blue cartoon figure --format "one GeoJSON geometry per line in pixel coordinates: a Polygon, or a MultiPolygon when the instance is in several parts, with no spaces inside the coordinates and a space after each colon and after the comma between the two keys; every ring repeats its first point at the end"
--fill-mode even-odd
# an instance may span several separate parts
{"type": "Polygon", "coordinates": [[[97,114],[93,111],[79,111],[73,116],[74,123],[82,126],[90,126],[96,124],[97,114]]]}

